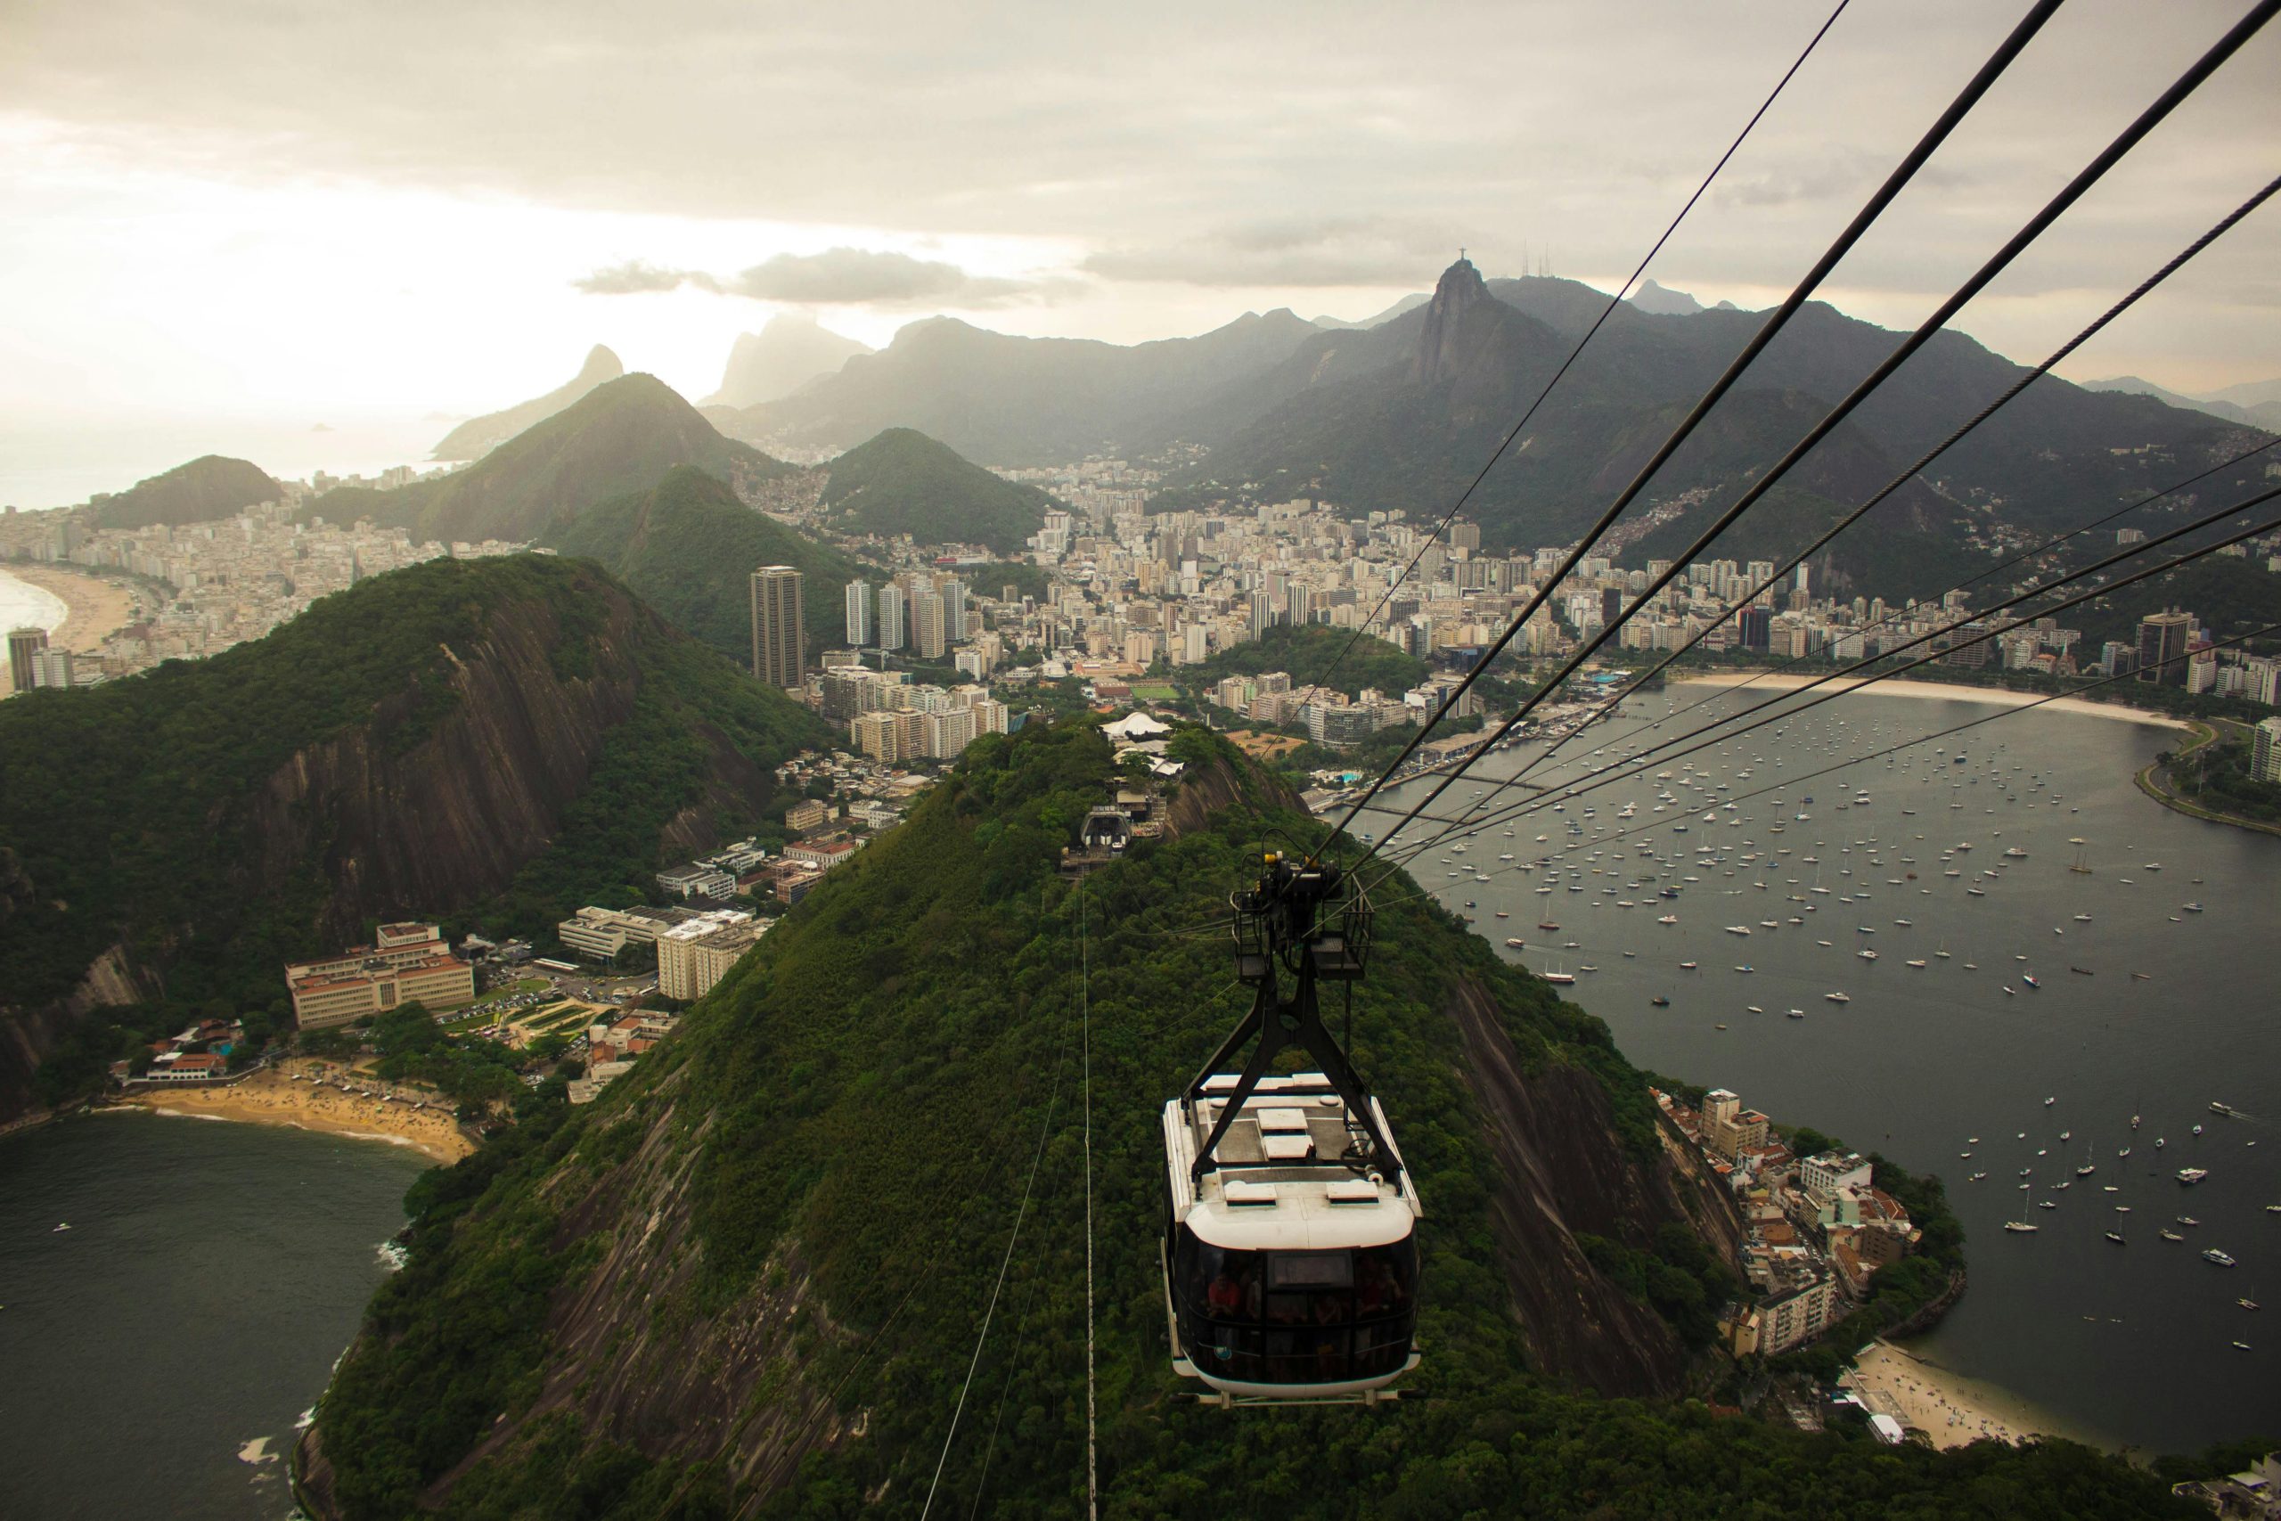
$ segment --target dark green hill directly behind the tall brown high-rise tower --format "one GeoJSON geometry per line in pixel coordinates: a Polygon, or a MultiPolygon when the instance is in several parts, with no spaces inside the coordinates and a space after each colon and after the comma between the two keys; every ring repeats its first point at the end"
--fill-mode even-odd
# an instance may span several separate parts
{"type": "Polygon", "coordinates": [[[666,623],[739,664],[753,654],[755,568],[794,566],[807,575],[810,652],[846,643],[844,593],[862,575],[849,556],[755,513],[696,465],[675,465],[652,490],[579,513],[545,543],[602,561],[666,623]]]}

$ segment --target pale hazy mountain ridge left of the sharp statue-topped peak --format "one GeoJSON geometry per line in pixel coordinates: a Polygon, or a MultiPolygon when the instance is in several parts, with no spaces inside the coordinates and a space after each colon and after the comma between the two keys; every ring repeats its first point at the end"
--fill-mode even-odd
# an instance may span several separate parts
{"type": "Polygon", "coordinates": [[[1120,347],[1008,337],[953,317],[912,322],[794,397],[746,408],[732,433],[846,449],[917,429],[983,465],[1038,465],[1163,436],[1200,401],[1266,374],[1314,324],[1248,312],[1198,337],[1120,347]]]}

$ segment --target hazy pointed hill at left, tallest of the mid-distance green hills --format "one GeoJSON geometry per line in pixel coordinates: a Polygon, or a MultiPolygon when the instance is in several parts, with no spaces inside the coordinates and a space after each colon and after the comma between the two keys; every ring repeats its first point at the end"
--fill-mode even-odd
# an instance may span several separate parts
{"type": "Polygon", "coordinates": [[[721,438],[693,406],[650,374],[630,374],[506,440],[474,465],[399,490],[342,488],[310,511],[372,518],[415,538],[534,540],[588,506],[643,493],[675,465],[730,486],[794,474],[794,465],[721,438]]]}

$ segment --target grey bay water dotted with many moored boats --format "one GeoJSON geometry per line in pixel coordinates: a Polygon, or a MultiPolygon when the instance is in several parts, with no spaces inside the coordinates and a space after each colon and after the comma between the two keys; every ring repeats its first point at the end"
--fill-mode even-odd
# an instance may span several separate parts
{"type": "MultiPolygon", "coordinates": [[[[1765,696],[1681,684],[1633,698],[1528,778],[1565,789],[1765,696]]],[[[2133,771],[2181,739],[2103,714],[1850,693],[1633,780],[1547,794],[1412,871],[1501,953],[1574,974],[1562,997],[1606,1019],[1635,1065],[1937,1172],[1971,1286],[1918,1355],[2067,1430],[2187,1450],[2281,1432],[2281,1213],[2267,1213],[2281,1204],[2281,837],[2142,796],[2133,771]],[[2003,716],[1807,778],[1989,714],[2003,716]],[[1674,803],[1656,812],[1663,794],[1674,803]],[[1528,869],[1547,855],[1556,876],[1528,869]],[[2076,1177],[2085,1163],[2096,1172],[2076,1177]],[[2208,1179],[2183,1186],[2181,1168],[2208,1179]],[[2055,1209],[2037,1209],[2046,1199],[2055,1209]],[[2206,1261],[2208,1247],[2238,1266],[2206,1261]]],[[[1544,750],[1485,759],[1430,812],[1489,803],[1494,780],[1544,750]]],[[[1389,828],[1385,814],[1357,828],[1373,821],[1389,828]]]]}

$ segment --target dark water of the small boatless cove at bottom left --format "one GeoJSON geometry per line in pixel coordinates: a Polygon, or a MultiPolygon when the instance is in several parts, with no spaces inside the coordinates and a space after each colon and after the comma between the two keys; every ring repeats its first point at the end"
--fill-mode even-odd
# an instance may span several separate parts
{"type": "Polygon", "coordinates": [[[424,1165],[141,1111],[0,1138],[0,1516],[290,1516],[297,1423],[424,1165]]]}

